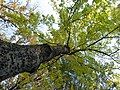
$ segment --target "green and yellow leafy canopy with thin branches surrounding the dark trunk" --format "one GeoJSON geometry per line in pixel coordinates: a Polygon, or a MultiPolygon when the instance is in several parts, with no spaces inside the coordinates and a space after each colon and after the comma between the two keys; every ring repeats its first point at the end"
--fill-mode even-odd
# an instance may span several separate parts
{"type": "Polygon", "coordinates": [[[87,0],[51,2],[58,20],[53,15],[42,15],[27,8],[28,2],[25,6],[18,1],[2,2],[1,32],[14,31],[7,39],[2,33],[4,40],[17,44],[67,45],[70,52],[41,64],[35,74],[22,73],[6,80],[1,88],[119,89],[120,75],[113,72],[120,69],[120,8],[114,6],[116,0],[93,0],[92,4],[87,0]],[[54,24],[58,25],[57,29],[54,24]],[[46,25],[49,31],[42,33],[40,25],[46,25]]]}

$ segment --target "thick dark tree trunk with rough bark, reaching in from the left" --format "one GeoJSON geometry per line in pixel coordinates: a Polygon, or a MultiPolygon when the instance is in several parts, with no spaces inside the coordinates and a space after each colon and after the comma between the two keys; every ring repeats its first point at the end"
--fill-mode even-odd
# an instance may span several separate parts
{"type": "Polygon", "coordinates": [[[18,45],[0,40],[0,82],[22,72],[35,72],[41,63],[67,54],[67,46],[18,45]]]}

